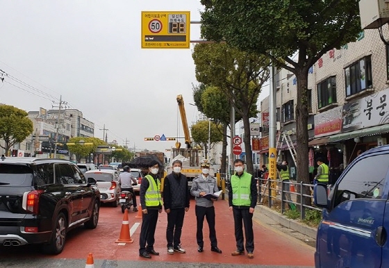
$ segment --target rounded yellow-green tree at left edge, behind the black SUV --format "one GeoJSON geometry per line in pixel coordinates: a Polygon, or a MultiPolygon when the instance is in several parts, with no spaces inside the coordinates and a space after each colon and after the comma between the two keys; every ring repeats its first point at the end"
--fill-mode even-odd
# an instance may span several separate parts
{"type": "Polygon", "coordinates": [[[0,105],[0,139],[4,140],[4,146],[0,146],[6,151],[6,156],[11,146],[23,142],[33,130],[33,122],[26,111],[14,106],[0,105]]]}

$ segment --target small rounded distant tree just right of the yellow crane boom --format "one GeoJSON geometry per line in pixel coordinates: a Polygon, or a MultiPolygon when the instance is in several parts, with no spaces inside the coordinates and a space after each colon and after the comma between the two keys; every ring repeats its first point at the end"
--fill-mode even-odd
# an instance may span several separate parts
{"type": "Polygon", "coordinates": [[[208,135],[210,134],[210,144],[215,142],[222,141],[222,133],[218,129],[217,125],[214,122],[209,121],[199,121],[196,124],[192,125],[191,129],[192,138],[195,142],[203,144],[203,148],[206,151],[206,158],[208,159],[208,135]],[[210,124],[210,128],[209,128],[210,124]]]}

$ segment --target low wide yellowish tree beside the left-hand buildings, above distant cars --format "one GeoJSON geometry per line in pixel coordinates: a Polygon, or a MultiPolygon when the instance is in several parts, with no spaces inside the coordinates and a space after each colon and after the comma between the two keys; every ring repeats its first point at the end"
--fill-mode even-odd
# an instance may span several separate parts
{"type": "Polygon", "coordinates": [[[88,158],[90,153],[94,153],[99,145],[106,145],[106,142],[98,139],[97,137],[72,137],[69,139],[67,149],[69,149],[70,153],[74,153],[76,155],[77,162],[81,162],[82,158],[88,158]],[[74,143],[74,145],[72,143],[74,143]],[[87,143],[92,144],[85,145],[87,143]]]}

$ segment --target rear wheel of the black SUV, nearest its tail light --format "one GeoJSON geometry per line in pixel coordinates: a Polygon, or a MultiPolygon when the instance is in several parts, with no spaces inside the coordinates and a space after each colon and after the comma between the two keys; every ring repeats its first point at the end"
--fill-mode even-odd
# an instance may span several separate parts
{"type": "Polygon", "coordinates": [[[55,225],[53,226],[53,234],[49,244],[43,245],[44,253],[59,254],[63,251],[66,242],[66,226],[67,220],[63,212],[58,214],[55,225]]]}

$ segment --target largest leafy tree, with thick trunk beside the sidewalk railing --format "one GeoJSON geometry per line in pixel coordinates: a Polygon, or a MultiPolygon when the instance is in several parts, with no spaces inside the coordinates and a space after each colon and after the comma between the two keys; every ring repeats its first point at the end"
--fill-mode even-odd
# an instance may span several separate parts
{"type": "Polygon", "coordinates": [[[201,0],[201,35],[267,55],[297,78],[297,173],[308,176],[308,70],[324,53],[354,42],[361,26],[355,0],[201,0]],[[226,16],[228,14],[228,16],[226,16]],[[290,57],[298,52],[297,61],[290,57]]]}

